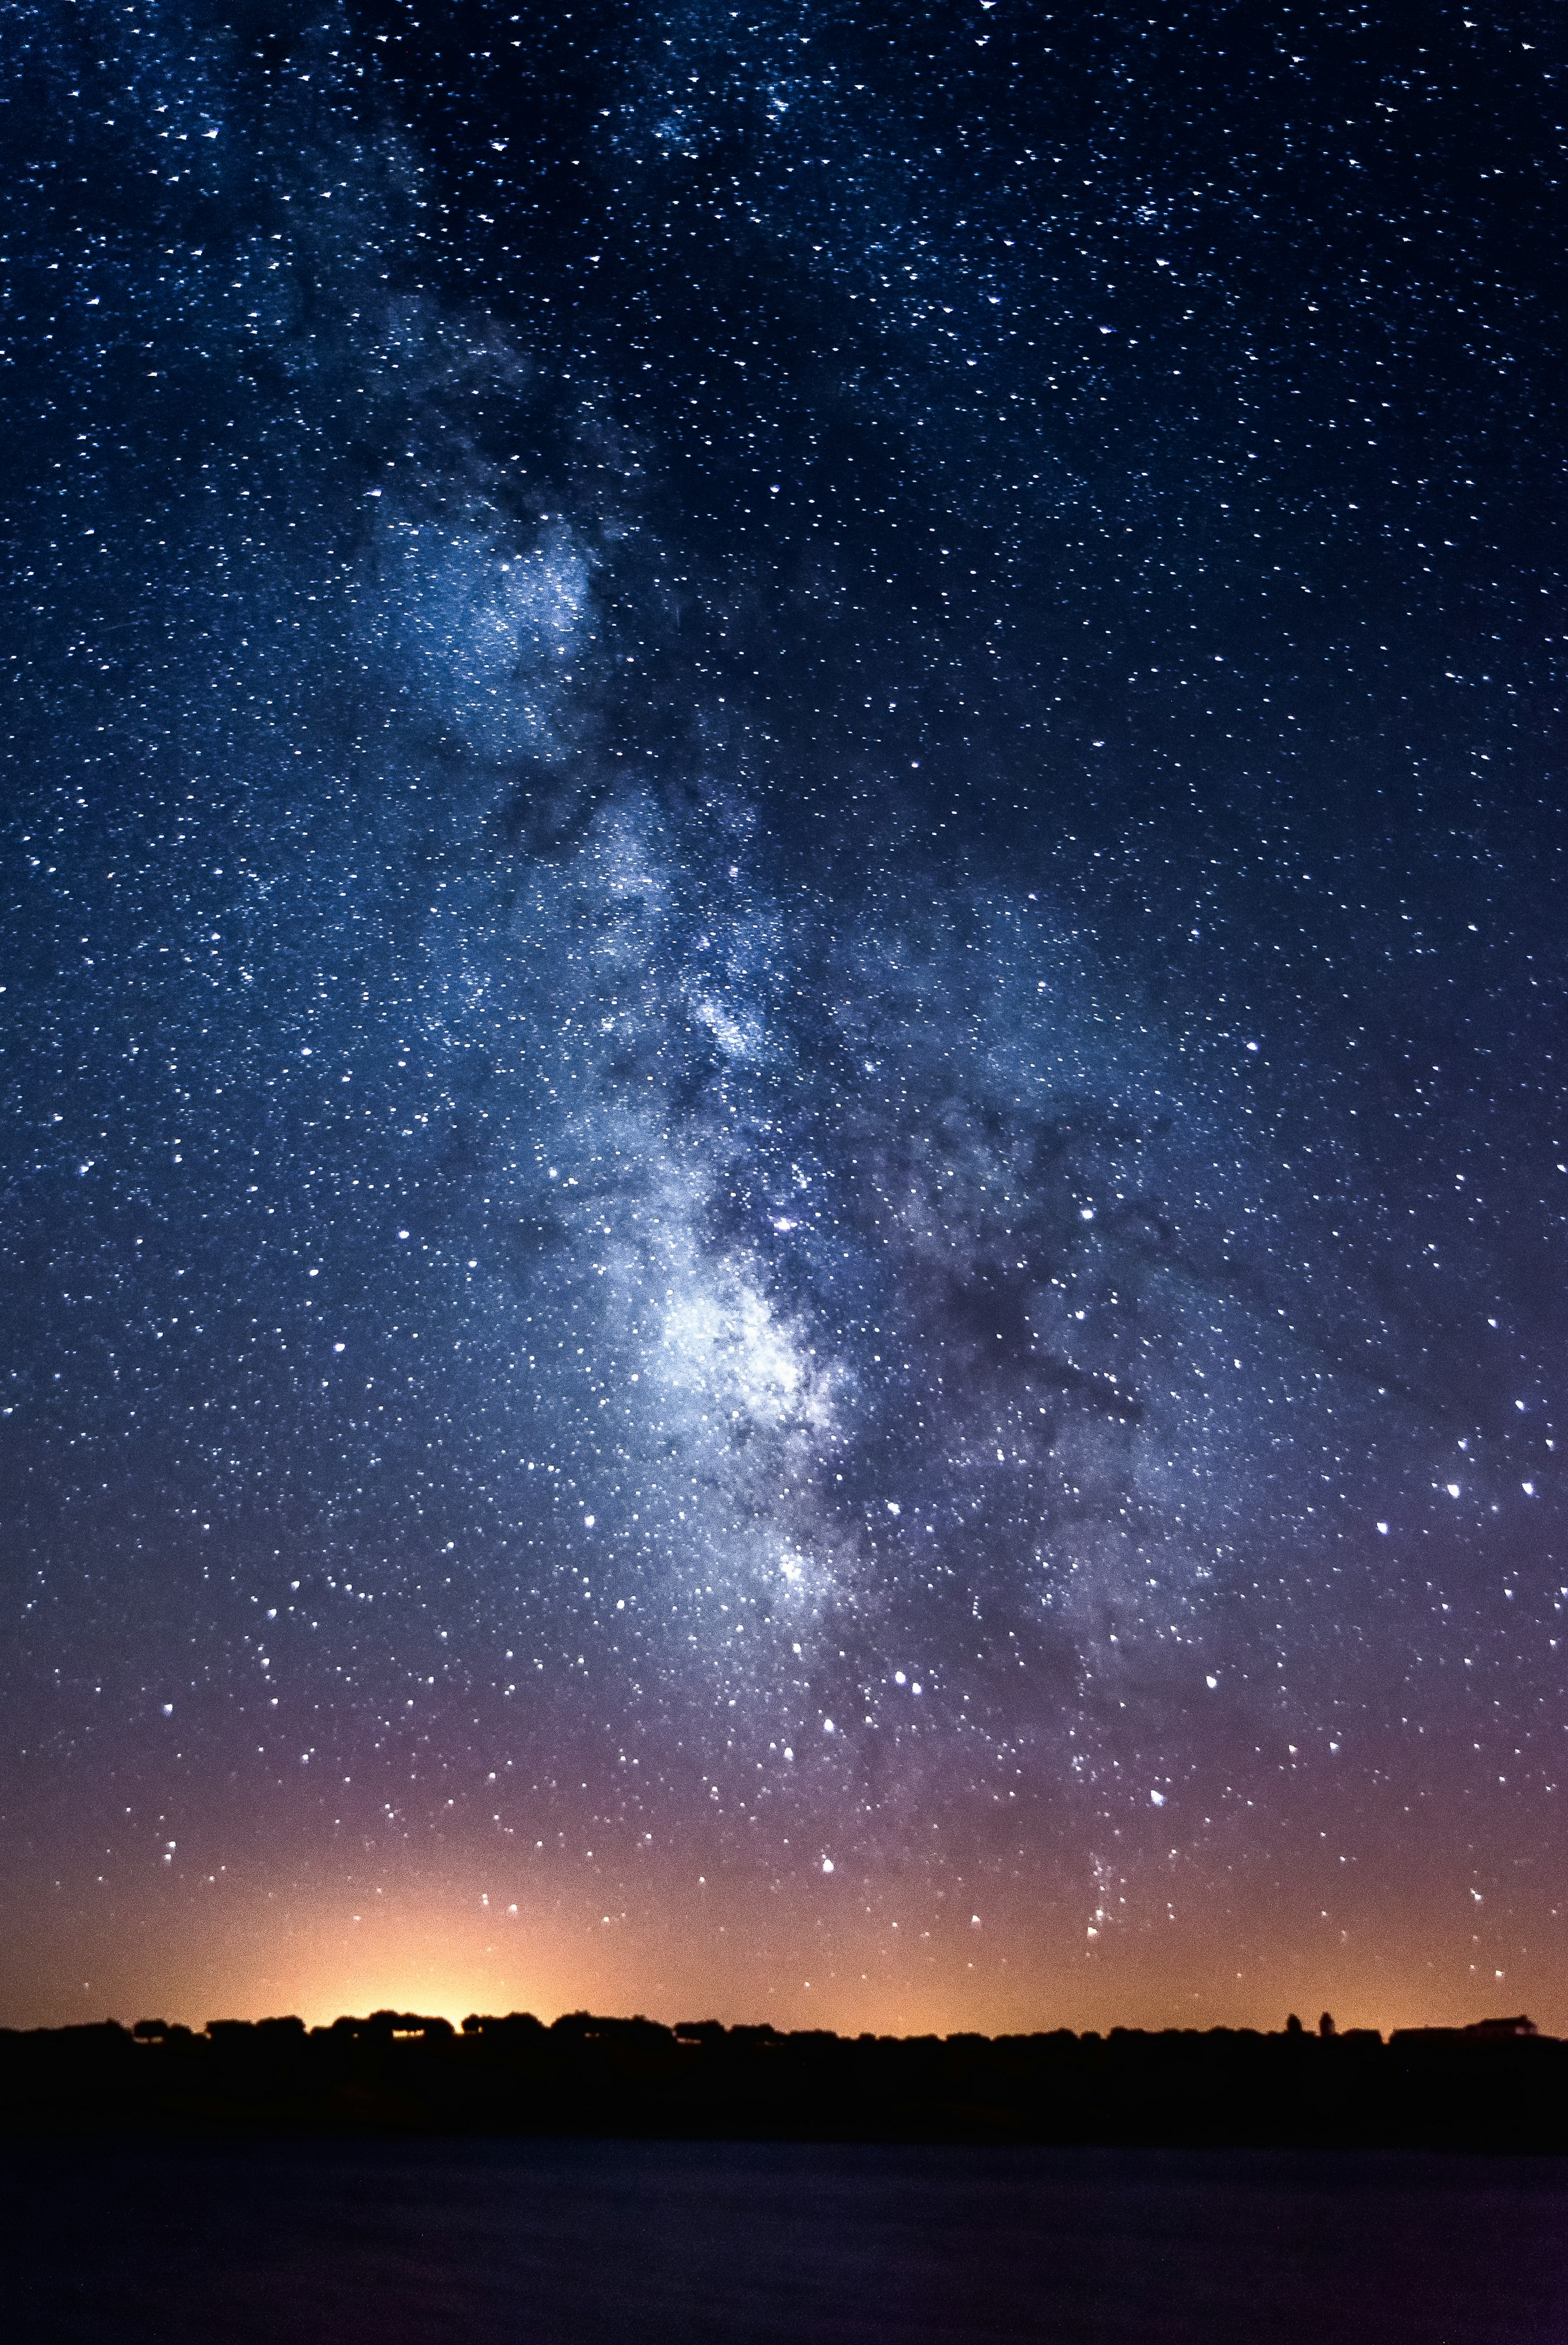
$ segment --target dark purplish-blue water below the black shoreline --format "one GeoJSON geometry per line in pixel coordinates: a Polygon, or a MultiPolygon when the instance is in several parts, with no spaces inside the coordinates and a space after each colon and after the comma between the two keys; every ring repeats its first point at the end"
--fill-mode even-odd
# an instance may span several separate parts
{"type": "Polygon", "coordinates": [[[757,2143],[0,2153],[9,2345],[1568,2345],[1568,2162],[757,2143]]]}

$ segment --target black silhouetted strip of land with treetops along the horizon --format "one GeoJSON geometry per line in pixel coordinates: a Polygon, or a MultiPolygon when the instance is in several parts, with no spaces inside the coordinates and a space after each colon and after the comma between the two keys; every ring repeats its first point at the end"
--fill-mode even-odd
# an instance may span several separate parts
{"type": "Polygon", "coordinates": [[[1568,2153],[1568,2040],[1528,2019],[1338,2033],[832,2035],[570,2012],[0,2031],[0,2127],[1568,2153]]]}

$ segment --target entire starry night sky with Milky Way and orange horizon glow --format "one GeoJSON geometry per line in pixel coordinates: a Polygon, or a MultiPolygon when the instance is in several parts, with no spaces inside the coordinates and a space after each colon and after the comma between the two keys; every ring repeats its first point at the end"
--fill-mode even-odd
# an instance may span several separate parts
{"type": "Polygon", "coordinates": [[[1568,2028],[1559,12],[5,21],[0,2021],[1568,2028]]]}

